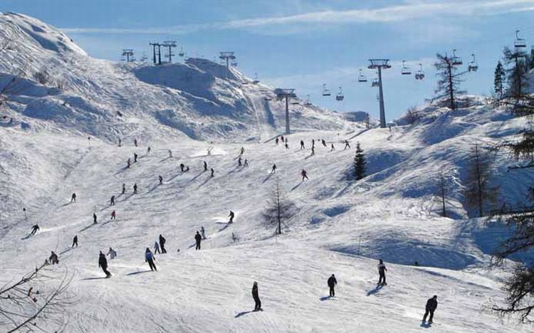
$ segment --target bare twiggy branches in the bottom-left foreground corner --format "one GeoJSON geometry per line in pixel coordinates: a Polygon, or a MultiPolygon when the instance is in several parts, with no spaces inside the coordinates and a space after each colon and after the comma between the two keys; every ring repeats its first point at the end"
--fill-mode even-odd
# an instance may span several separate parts
{"type": "Polygon", "coordinates": [[[45,263],[19,281],[0,288],[1,329],[8,333],[21,329],[33,332],[36,328],[46,332],[44,327],[63,326],[65,309],[73,304],[66,293],[71,278],[67,273],[60,277],[48,267],[45,263]],[[59,281],[56,285],[55,280],[59,281]]]}

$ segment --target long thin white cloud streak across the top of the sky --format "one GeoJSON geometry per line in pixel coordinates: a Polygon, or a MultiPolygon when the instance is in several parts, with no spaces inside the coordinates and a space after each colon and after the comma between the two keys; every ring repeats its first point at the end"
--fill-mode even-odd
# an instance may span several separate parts
{"type": "Polygon", "coordinates": [[[411,1],[378,9],[325,10],[289,16],[246,18],[161,28],[63,28],[66,33],[184,34],[201,30],[247,29],[276,26],[387,23],[436,15],[483,16],[534,11],[534,0],[411,1]]]}

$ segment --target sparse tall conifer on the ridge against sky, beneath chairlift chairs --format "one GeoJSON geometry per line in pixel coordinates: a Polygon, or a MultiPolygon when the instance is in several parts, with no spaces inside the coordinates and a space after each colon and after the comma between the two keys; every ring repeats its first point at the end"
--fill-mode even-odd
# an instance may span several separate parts
{"type": "Polygon", "coordinates": [[[451,110],[456,110],[456,97],[458,95],[466,93],[464,90],[460,90],[461,79],[460,73],[457,73],[458,69],[454,65],[454,58],[449,56],[443,56],[436,54],[436,76],[439,78],[436,90],[434,93],[438,94],[436,98],[444,98],[446,105],[451,110]]]}

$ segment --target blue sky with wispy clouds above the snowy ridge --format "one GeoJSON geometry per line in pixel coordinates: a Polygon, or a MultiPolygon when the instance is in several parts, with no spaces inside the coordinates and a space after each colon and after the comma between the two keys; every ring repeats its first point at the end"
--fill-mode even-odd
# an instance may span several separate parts
{"type": "MultiPolygon", "coordinates": [[[[265,82],[296,88],[332,110],[378,115],[377,90],[357,83],[368,58],[390,58],[384,73],[387,118],[434,94],[437,52],[464,60],[476,54],[468,93],[490,94],[493,70],[515,30],[534,44],[534,0],[1,0],[16,11],[62,28],[91,56],[120,60],[122,48],[150,56],[149,41],[175,40],[187,56],[213,59],[235,51],[239,68],[265,82]],[[400,74],[422,63],[423,81],[400,74]],[[345,101],[321,96],[339,86],[345,101]]],[[[374,73],[366,69],[371,79],[374,73]]]]}

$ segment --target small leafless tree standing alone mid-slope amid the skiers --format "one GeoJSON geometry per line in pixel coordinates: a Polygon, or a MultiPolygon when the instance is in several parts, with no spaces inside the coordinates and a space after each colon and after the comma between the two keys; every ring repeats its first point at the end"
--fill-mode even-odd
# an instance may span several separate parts
{"type": "Polygon", "coordinates": [[[271,197],[267,201],[267,206],[263,212],[266,225],[268,227],[276,226],[276,233],[282,233],[282,225],[287,226],[287,221],[295,215],[297,206],[290,201],[286,192],[280,185],[280,179],[276,178],[276,184],[273,187],[271,197]]]}

